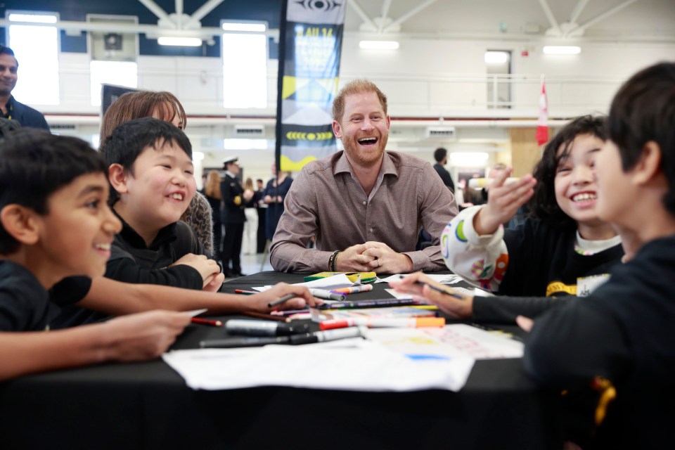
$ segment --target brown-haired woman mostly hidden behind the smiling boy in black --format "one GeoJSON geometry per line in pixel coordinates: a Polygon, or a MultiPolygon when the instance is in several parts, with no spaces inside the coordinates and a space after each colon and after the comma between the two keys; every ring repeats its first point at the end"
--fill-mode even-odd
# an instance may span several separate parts
{"type": "MultiPolygon", "coordinates": [[[[170,92],[135,91],[122,94],[105,111],[101,123],[99,148],[105,143],[113,130],[129,120],[140,117],[172,122],[180,129],[185,129],[187,117],[183,105],[170,92]]],[[[181,220],[188,224],[197,235],[198,240],[211,255],[214,255],[212,210],[208,200],[199,192],[190,202],[190,206],[181,220]]]]}

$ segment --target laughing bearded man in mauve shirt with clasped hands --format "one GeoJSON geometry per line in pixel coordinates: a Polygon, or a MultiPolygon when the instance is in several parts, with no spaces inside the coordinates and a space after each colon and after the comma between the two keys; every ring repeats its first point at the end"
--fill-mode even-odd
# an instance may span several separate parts
{"type": "Polygon", "coordinates": [[[454,196],[428,162],[386,151],[387,96],[356,79],[333,101],[344,151],[302,169],[285,199],[270,259],[278,271],[444,270],[439,236],[457,214],[454,196]],[[416,250],[420,229],[432,245],[416,250]],[[314,237],[316,249],[307,243],[314,237]]]}

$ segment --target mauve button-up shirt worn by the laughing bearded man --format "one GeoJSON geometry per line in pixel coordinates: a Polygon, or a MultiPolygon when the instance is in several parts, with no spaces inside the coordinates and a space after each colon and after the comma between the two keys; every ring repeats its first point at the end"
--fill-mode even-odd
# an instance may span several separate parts
{"type": "Polygon", "coordinates": [[[371,195],[356,180],[344,151],[309,162],[293,181],[270,250],[275,270],[328,271],[335,250],[368,241],[405,253],[413,270],[446,269],[439,239],[457,214],[454,196],[429,162],[385,151],[371,195]],[[416,251],[423,228],[432,245],[416,251]],[[307,248],[315,236],[316,248],[307,248]]]}

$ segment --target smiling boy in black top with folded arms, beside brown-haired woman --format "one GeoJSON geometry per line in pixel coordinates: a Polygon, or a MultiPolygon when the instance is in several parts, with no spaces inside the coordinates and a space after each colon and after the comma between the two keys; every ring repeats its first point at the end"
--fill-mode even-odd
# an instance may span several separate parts
{"type": "Polygon", "coordinates": [[[122,220],[105,276],[128,283],[201,289],[222,284],[218,264],[179,221],[197,191],[192,146],[181,129],[144,117],[117,127],[101,152],[122,220]]]}

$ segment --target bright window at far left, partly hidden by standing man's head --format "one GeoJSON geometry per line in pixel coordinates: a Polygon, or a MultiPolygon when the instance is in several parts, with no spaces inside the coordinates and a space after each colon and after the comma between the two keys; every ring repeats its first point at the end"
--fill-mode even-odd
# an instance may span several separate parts
{"type": "MultiPolygon", "coordinates": [[[[11,22],[56,23],[55,13],[8,13],[11,22]]],[[[58,31],[45,25],[9,25],[8,46],[19,62],[12,91],[22,103],[58,105],[58,31]]]]}

